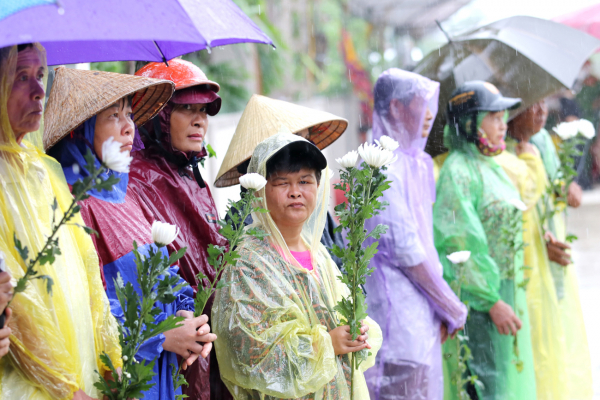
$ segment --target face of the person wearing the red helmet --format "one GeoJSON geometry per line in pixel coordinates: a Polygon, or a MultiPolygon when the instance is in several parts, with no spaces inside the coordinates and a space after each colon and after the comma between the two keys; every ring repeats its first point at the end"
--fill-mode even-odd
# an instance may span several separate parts
{"type": "Polygon", "coordinates": [[[206,104],[177,104],[171,112],[171,145],[184,153],[202,151],[208,129],[206,104]]]}

